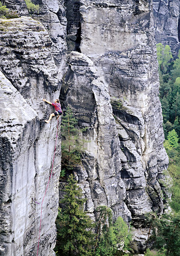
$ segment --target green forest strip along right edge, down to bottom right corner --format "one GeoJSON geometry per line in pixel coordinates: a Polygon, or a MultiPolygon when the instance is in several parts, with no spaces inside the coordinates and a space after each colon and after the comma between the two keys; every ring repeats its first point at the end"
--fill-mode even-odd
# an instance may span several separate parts
{"type": "MultiPolygon", "coordinates": [[[[165,214],[157,217],[150,214],[148,223],[153,229],[156,251],[146,251],[146,256],[180,255],[180,51],[173,59],[170,46],[157,44],[159,64],[159,97],[162,104],[164,147],[169,157],[168,170],[164,170],[165,180],[161,184],[171,193],[165,214]]],[[[166,201],[166,195],[164,195],[166,201]]],[[[168,203],[168,202],[167,202],[168,203]]]]}

